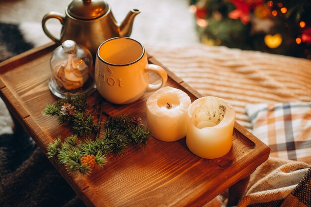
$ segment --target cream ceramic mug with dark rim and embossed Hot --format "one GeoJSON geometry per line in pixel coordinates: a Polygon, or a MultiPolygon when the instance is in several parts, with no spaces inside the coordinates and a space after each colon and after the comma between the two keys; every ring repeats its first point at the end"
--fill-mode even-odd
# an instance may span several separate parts
{"type": "Polygon", "coordinates": [[[148,64],[144,46],[128,37],[116,37],[102,43],[95,61],[95,83],[98,92],[109,102],[128,104],[145,92],[155,91],[167,81],[167,74],[159,66],[148,64]],[[149,83],[149,72],[162,79],[149,83]]]}

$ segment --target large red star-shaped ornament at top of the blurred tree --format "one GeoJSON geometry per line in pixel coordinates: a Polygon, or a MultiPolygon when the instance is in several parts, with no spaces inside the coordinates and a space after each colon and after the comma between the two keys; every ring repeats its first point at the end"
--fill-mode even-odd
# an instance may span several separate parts
{"type": "Polygon", "coordinates": [[[228,16],[232,19],[240,19],[243,24],[247,24],[250,20],[249,12],[256,6],[263,4],[263,0],[229,0],[236,9],[231,11],[228,16]]]}

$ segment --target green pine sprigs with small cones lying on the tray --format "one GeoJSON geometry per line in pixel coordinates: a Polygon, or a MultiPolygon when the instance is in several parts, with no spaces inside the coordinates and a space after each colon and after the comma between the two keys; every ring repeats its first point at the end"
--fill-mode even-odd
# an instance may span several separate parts
{"type": "MultiPolygon", "coordinates": [[[[106,155],[115,153],[122,156],[130,145],[146,145],[150,131],[143,126],[141,118],[109,116],[103,123],[104,133],[99,137],[101,119],[95,125],[93,116],[85,115],[86,107],[84,96],[67,96],[48,105],[43,111],[45,115],[57,116],[60,124],[72,127],[74,135],[65,138],[63,143],[58,137],[48,147],[48,156],[57,156],[58,162],[65,165],[68,173],[87,176],[95,163],[104,165],[106,155]],[[94,140],[90,139],[90,135],[94,135],[94,140]],[[78,137],[86,139],[81,141],[78,137]]],[[[103,113],[101,104],[99,116],[103,113]]]]}

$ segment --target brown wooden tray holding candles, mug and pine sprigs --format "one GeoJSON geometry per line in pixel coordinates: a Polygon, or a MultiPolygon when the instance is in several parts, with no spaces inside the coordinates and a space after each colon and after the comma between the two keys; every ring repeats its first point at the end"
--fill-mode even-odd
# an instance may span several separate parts
{"type": "MultiPolygon", "coordinates": [[[[46,154],[48,144],[59,135],[71,135],[55,118],[42,115],[56,98],[48,88],[49,60],[54,44],[35,48],[0,63],[0,96],[11,114],[46,154]]],[[[150,63],[162,66],[149,56],[150,63]]],[[[163,66],[162,66],[163,67],[163,66]]],[[[163,67],[166,69],[165,67],[163,67]]],[[[191,100],[201,95],[166,69],[167,85],[185,91],[191,100]]],[[[104,102],[111,115],[134,113],[146,123],[146,93],[130,105],[104,102]]],[[[90,102],[99,101],[95,92],[90,102]]],[[[89,206],[203,206],[247,177],[268,159],[270,148],[235,123],[233,147],[224,157],[203,159],[192,154],[185,138],[163,142],[150,138],[145,149],[130,148],[123,157],[112,156],[103,169],[88,178],[68,175],[64,166],[50,159],[57,170],[89,206]]]]}

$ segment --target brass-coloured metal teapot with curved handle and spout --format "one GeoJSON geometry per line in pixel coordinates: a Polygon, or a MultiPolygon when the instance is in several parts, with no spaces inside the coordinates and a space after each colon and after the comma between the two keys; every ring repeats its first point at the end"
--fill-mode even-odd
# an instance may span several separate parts
{"type": "Polygon", "coordinates": [[[73,0],[65,12],[65,16],[55,11],[47,13],[42,19],[44,33],[58,44],[74,40],[85,46],[95,58],[99,45],[105,40],[131,35],[134,18],[140,10],[132,9],[122,23],[115,20],[110,6],[103,0],[73,0]],[[63,25],[60,39],[46,27],[50,18],[58,19],[63,25]]]}

